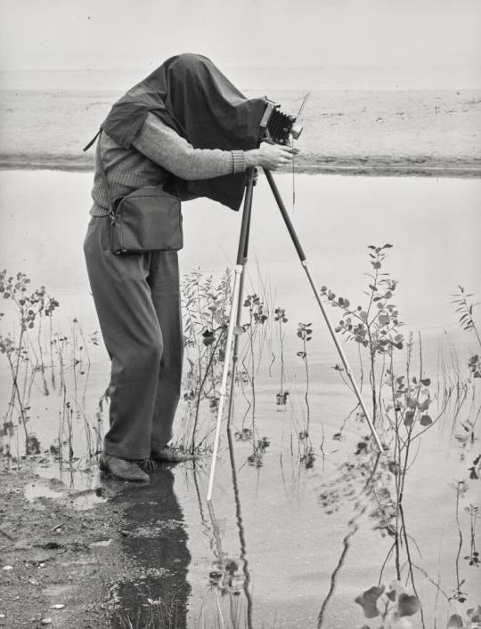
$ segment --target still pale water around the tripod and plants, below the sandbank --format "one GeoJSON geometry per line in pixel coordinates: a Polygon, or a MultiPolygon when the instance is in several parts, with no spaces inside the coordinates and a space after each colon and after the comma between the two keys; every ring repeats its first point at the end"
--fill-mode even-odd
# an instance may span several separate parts
{"type": "MultiPolygon", "coordinates": [[[[91,179],[85,173],[0,173],[0,268],[10,274],[21,270],[32,286],[45,285],[61,302],[59,329],[69,334],[76,318],[86,336],[98,329],[82,254],[91,179]]],[[[302,175],[295,181],[293,207],[291,177],[280,175],[276,181],[292,208],[291,219],[318,285],[352,303],[363,302],[370,270],[366,247],[393,245],[385,268],[399,281],[396,305],[404,332],[420,331],[423,338],[424,375],[436,379],[440,357],[452,351],[466,372],[467,359],[479,348],[476,337],[460,331],[451,295],[459,285],[481,294],[481,181],[302,175]]],[[[220,277],[226,267],[232,268],[240,216],[200,200],[185,204],[183,217],[183,273],[200,267],[220,277]]],[[[235,626],[236,618],[242,627],[379,627],[379,617],[363,618],[355,603],[371,586],[388,586],[395,579],[392,537],[379,527],[376,505],[363,502],[366,479],[358,478],[355,465],[355,447],[364,429],[351,418],[345,440],[332,439],[355,399],[332,369],[338,362],[333,343],[281,215],[259,177],[246,292],[258,294],[261,288],[271,307],[284,308],[289,319],[284,352],[290,391],[289,404],[276,406],[279,360],[271,368],[267,360],[257,374],[257,431],[270,444],[262,465],[249,464],[249,442],[234,439],[227,448],[224,437],[210,509],[205,499],[208,458],[195,469],[159,470],[148,488],[118,490],[114,500],[126,508],[130,531],[123,550],[135,565],[132,580],[118,585],[118,595],[125,609],[143,609],[144,623],[159,607],[155,601],[162,599],[175,601],[173,626],[179,627],[235,626]],[[306,414],[305,370],[297,356],[299,321],[312,323],[313,329],[313,465],[300,460],[296,439],[299,417],[306,414]],[[353,467],[346,468],[350,460],[353,467]]],[[[330,314],[337,321],[336,310],[330,314]]],[[[2,325],[6,332],[11,320],[5,318],[2,325]]],[[[94,414],[95,400],[107,384],[108,364],[102,346],[91,351],[86,409],[94,414]]],[[[357,369],[357,348],[346,344],[346,351],[357,369]]],[[[9,388],[1,368],[4,406],[9,388]]],[[[456,491],[478,454],[476,442],[471,452],[455,438],[461,421],[477,415],[479,381],[477,389],[473,383],[469,387],[472,402],[456,416],[448,407],[443,421],[418,441],[406,479],[405,529],[423,604],[423,618],[419,613],[412,617],[413,626],[424,621],[431,627],[436,620],[444,628],[452,613],[465,613],[480,602],[479,569],[463,559],[469,540],[478,537],[469,515],[469,505],[477,504],[477,488],[461,497],[456,491]],[[462,591],[468,594],[464,603],[452,598],[463,579],[462,591]]],[[[48,404],[43,400],[45,410],[37,416],[37,436],[45,448],[57,434],[59,402],[54,398],[48,404]]],[[[245,408],[240,399],[235,430],[243,425],[245,408]]],[[[392,477],[383,479],[392,490],[392,477]]],[[[95,476],[89,482],[99,481],[95,476]]],[[[405,565],[402,570],[407,583],[405,565]]],[[[407,589],[411,594],[411,581],[407,589]]]]}

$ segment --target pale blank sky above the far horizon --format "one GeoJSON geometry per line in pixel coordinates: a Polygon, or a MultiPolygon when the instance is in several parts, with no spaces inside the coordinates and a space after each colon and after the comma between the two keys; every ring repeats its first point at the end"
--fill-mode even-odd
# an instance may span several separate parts
{"type": "Polygon", "coordinates": [[[481,0],[0,0],[0,69],[481,67],[481,0]]]}

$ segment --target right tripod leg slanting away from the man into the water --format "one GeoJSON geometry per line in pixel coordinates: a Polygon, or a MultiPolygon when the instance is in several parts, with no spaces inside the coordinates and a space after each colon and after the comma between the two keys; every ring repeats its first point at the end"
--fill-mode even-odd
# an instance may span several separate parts
{"type": "Polygon", "coordinates": [[[281,211],[282,214],[282,218],[286,224],[286,227],[289,231],[289,236],[292,239],[292,242],[294,244],[294,246],[296,247],[296,251],[298,252],[298,256],[299,256],[299,260],[303,266],[303,269],[306,271],[306,276],[307,279],[309,280],[309,284],[311,285],[313,291],[314,291],[314,296],[316,299],[316,302],[319,304],[319,307],[321,308],[322,311],[322,316],[324,317],[324,320],[327,324],[327,327],[329,328],[330,331],[330,335],[332,336],[332,340],[334,341],[334,344],[336,345],[336,349],[338,350],[338,354],[339,357],[342,361],[342,364],[346,370],[346,374],[352,384],[353,390],[355,391],[355,396],[357,398],[357,400],[359,401],[359,406],[363,409],[363,414],[366,418],[366,422],[369,425],[369,428],[371,430],[371,434],[372,437],[374,439],[374,441],[376,442],[376,446],[379,448],[379,452],[384,452],[384,448],[382,447],[382,444],[380,442],[379,439],[379,435],[378,432],[376,431],[376,429],[374,428],[374,423],[372,423],[371,420],[371,415],[369,414],[369,411],[366,407],[366,405],[364,404],[363,398],[361,396],[361,391],[359,391],[357,384],[355,383],[355,377],[353,375],[353,371],[351,369],[351,367],[349,366],[349,363],[347,362],[346,359],[346,354],[344,353],[339,341],[338,341],[338,336],[336,335],[336,331],[334,330],[334,327],[332,327],[332,324],[330,323],[330,319],[329,319],[329,315],[327,313],[327,310],[324,307],[324,304],[322,303],[321,297],[315,287],[314,284],[314,279],[312,278],[312,275],[307,267],[307,261],[306,261],[306,255],[304,254],[304,251],[302,249],[302,246],[299,242],[298,239],[298,235],[296,234],[296,230],[294,230],[294,227],[292,225],[292,222],[290,221],[289,218],[289,214],[286,210],[286,206],[284,206],[284,203],[282,201],[281,198],[281,194],[275,184],[275,181],[273,181],[273,174],[268,171],[265,170],[265,176],[267,177],[267,181],[269,181],[269,186],[271,187],[271,190],[273,191],[273,196],[276,200],[277,205],[279,206],[279,209],[281,211]]]}

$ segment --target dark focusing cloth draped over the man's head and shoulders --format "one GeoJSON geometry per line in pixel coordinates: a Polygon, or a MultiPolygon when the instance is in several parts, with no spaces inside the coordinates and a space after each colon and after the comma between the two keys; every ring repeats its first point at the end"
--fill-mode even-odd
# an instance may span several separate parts
{"type": "MultiPolygon", "coordinates": [[[[194,149],[256,149],[262,136],[262,98],[247,99],[199,54],[171,57],[130,89],[110,109],[102,129],[129,149],[149,112],[172,127],[194,149]]],[[[238,210],[246,173],[202,181],[178,180],[191,197],[208,197],[238,210]]]]}

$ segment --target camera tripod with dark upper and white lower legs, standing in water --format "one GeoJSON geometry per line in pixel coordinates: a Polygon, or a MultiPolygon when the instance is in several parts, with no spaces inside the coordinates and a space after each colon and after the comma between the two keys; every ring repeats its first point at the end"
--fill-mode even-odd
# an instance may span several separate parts
{"type": "MultiPolygon", "coordinates": [[[[353,391],[355,391],[355,396],[358,399],[359,406],[363,410],[363,414],[366,418],[366,421],[371,430],[372,437],[376,443],[376,446],[379,448],[379,453],[382,453],[384,450],[382,448],[382,444],[379,439],[379,435],[374,428],[374,424],[372,423],[371,416],[369,414],[368,409],[366,408],[363,398],[361,396],[361,391],[357,384],[355,383],[355,378],[353,375],[353,371],[351,367],[349,367],[349,363],[346,359],[346,354],[344,353],[334,330],[332,324],[330,322],[328,313],[324,307],[324,304],[321,301],[321,297],[314,285],[314,279],[307,267],[306,255],[304,254],[303,248],[299,242],[298,235],[294,230],[292,222],[290,221],[289,214],[287,212],[286,207],[281,198],[281,193],[279,192],[275,181],[273,180],[273,174],[264,169],[265,176],[267,181],[269,182],[269,186],[273,192],[273,197],[279,206],[279,210],[281,211],[282,219],[286,225],[287,230],[289,231],[289,236],[292,240],[293,245],[298,252],[299,260],[302,264],[303,269],[306,271],[306,276],[309,281],[309,284],[313,288],[314,296],[319,304],[319,307],[322,311],[322,316],[329,328],[330,335],[332,336],[332,340],[336,345],[336,349],[338,350],[339,358],[342,361],[343,367],[346,371],[346,375],[348,376],[351,385],[353,387],[353,391]]],[[[225,358],[224,358],[224,370],[222,375],[221,386],[219,390],[219,407],[217,409],[217,421],[216,421],[216,435],[214,439],[214,449],[212,452],[212,461],[210,464],[210,474],[208,479],[208,495],[207,499],[210,500],[212,496],[212,488],[214,484],[214,476],[216,473],[216,459],[217,452],[219,448],[219,439],[220,439],[220,428],[222,423],[222,415],[224,412],[224,399],[227,394],[227,379],[229,375],[229,367],[231,363],[231,351],[232,351],[232,338],[233,338],[233,351],[232,351],[232,372],[231,372],[231,387],[230,387],[230,399],[229,399],[229,413],[228,413],[228,422],[230,422],[232,416],[232,405],[233,405],[233,384],[235,380],[236,373],[236,364],[238,359],[238,347],[239,347],[239,335],[235,334],[235,327],[240,326],[240,315],[242,309],[241,295],[244,287],[244,269],[248,259],[248,251],[249,251],[249,230],[250,230],[250,219],[252,214],[252,197],[253,197],[253,188],[254,188],[254,179],[255,179],[255,169],[249,168],[247,183],[246,183],[246,192],[244,196],[244,206],[242,210],[242,221],[240,224],[240,236],[239,236],[239,248],[237,252],[237,262],[234,267],[234,284],[232,288],[232,305],[231,305],[231,315],[229,319],[229,327],[227,331],[227,343],[225,345],[225,358]]]]}

